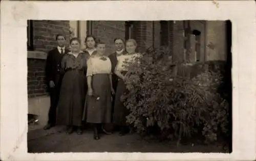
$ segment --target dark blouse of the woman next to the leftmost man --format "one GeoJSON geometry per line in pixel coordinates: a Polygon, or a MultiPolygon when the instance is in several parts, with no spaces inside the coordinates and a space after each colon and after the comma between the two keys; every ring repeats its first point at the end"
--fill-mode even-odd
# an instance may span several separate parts
{"type": "Polygon", "coordinates": [[[89,54],[80,52],[77,57],[70,53],[66,53],[61,61],[62,71],[65,72],[70,69],[82,70],[84,73],[87,71],[87,60],[89,59],[89,54]]]}

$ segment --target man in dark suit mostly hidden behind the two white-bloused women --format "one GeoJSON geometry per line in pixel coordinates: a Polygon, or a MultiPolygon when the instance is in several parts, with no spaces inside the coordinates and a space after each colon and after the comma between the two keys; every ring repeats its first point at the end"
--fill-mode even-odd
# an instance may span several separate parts
{"type": "MultiPolygon", "coordinates": [[[[113,84],[113,88],[114,90],[116,91],[116,88],[117,88],[117,83],[118,83],[118,76],[115,74],[115,67],[117,65],[117,57],[118,55],[122,55],[122,53],[124,52],[125,50],[125,46],[124,46],[124,40],[121,39],[121,38],[116,38],[114,39],[114,43],[116,45],[116,51],[113,52],[109,58],[110,58],[110,61],[111,61],[111,65],[112,65],[112,84],[113,84]]],[[[114,110],[114,102],[115,102],[115,94],[112,95],[112,106],[113,106],[113,110],[114,110]]],[[[112,112],[113,114],[113,112],[112,112]]],[[[105,133],[109,133],[107,131],[112,131],[113,129],[113,125],[110,125],[110,124],[106,124],[104,125],[103,127],[103,131],[105,133]]]]}

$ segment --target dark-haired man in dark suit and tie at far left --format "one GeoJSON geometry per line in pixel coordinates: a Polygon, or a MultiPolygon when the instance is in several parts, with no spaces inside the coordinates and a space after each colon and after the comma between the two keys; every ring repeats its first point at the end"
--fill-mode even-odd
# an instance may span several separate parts
{"type": "Polygon", "coordinates": [[[63,75],[61,74],[61,59],[64,53],[69,52],[65,47],[66,38],[63,35],[57,35],[56,41],[58,46],[48,52],[46,60],[46,80],[50,93],[50,109],[48,113],[48,123],[44,127],[45,130],[55,126],[56,109],[58,105],[60,86],[63,75]]]}

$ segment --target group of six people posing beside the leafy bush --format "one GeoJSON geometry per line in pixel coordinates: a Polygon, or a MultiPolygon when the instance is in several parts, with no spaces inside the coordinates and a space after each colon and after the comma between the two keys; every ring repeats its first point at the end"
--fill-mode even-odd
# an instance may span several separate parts
{"type": "Polygon", "coordinates": [[[86,37],[86,50],[81,50],[78,38],[70,40],[70,50],[65,36],[57,35],[56,41],[58,46],[49,51],[46,62],[51,106],[44,129],[66,125],[68,134],[81,135],[83,122],[92,123],[95,140],[100,139],[99,131],[110,133],[104,128],[108,124],[119,126],[120,136],[129,132],[129,110],[121,96],[129,70],[125,62],[141,56],[135,52],[136,41],[115,39],[116,51],[111,55],[105,53],[106,44],[93,36],[86,37]]]}

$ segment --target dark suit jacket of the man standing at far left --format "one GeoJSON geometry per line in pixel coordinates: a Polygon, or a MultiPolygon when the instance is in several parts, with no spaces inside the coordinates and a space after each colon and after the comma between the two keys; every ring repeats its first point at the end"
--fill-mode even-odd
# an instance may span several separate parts
{"type": "MultiPolygon", "coordinates": [[[[65,48],[65,53],[68,53],[68,48],[65,48]]],[[[49,86],[49,82],[53,81],[55,86],[60,86],[62,76],[61,73],[61,60],[64,54],[59,53],[58,48],[54,48],[48,52],[46,60],[46,81],[49,86]]]]}

